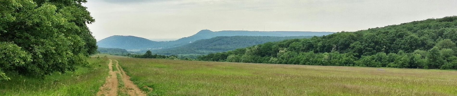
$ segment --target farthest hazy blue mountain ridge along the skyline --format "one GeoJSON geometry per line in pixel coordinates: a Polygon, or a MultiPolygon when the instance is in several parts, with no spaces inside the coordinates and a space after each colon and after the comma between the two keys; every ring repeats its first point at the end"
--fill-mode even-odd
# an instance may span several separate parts
{"type": "Polygon", "coordinates": [[[335,32],[310,32],[310,31],[244,31],[244,30],[223,30],[211,31],[201,30],[195,35],[184,37],[173,41],[152,41],[136,36],[113,35],[97,42],[99,47],[121,48],[127,50],[137,49],[164,49],[189,44],[196,40],[210,39],[217,36],[322,36],[335,32]]]}

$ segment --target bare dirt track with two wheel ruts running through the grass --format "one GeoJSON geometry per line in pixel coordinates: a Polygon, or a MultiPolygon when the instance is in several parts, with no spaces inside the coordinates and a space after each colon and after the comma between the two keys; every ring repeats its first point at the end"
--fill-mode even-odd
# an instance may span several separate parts
{"type": "Polygon", "coordinates": [[[100,91],[98,91],[97,96],[117,96],[117,91],[118,91],[118,80],[117,80],[117,73],[121,74],[122,80],[125,87],[127,88],[127,93],[129,96],[146,96],[137,85],[133,84],[132,81],[130,81],[130,76],[126,74],[126,72],[122,69],[121,66],[119,66],[119,62],[116,61],[116,68],[118,69],[117,71],[113,71],[113,65],[112,61],[116,60],[110,60],[110,63],[108,64],[109,68],[109,76],[106,77],[105,84],[100,87],[100,91]]]}

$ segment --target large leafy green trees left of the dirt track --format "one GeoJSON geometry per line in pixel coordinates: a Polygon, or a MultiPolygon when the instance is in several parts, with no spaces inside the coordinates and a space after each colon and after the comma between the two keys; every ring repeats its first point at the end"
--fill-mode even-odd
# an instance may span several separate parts
{"type": "Polygon", "coordinates": [[[0,0],[0,80],[74,71],[96,53],[86,0],[0,0]]]}

